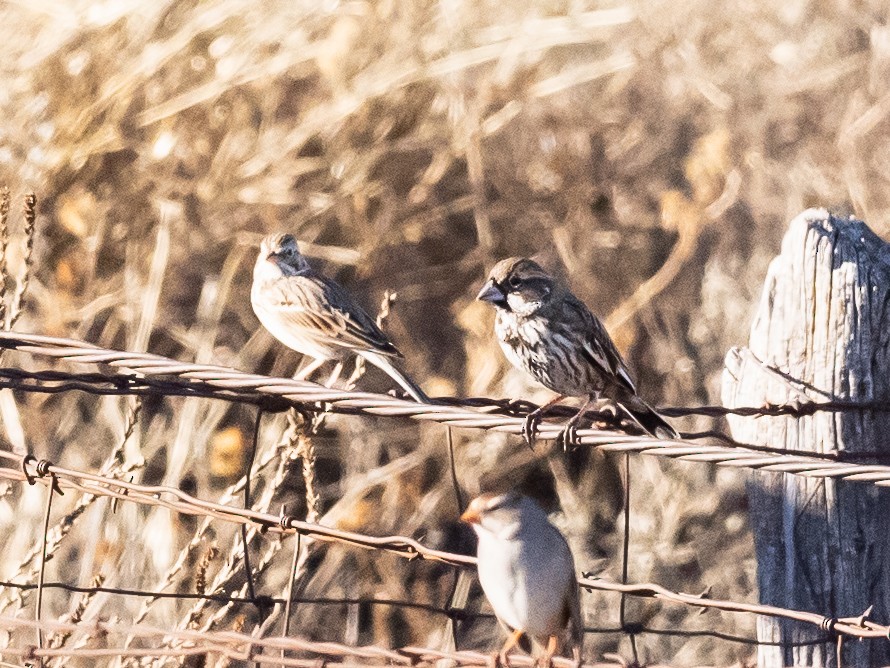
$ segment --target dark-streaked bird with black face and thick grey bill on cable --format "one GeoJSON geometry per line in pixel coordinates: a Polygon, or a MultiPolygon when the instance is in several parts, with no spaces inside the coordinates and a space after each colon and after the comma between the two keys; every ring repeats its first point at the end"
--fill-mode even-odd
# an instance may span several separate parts
{"type": "Polygon", "coordinates": [[[599,318],[537,262],[523,257],[501,260],[476,298],[495,307],[494,331],[507,359],[556,392],[527,416],[523,434],[529,446],[543,412],[565,397],[578,396],[587,400],[560,434],[564,446],[574,440],[575,426],[587,409],[602,399],[656,438],[679,437],[639,397],[627,364],[599,318]]]}

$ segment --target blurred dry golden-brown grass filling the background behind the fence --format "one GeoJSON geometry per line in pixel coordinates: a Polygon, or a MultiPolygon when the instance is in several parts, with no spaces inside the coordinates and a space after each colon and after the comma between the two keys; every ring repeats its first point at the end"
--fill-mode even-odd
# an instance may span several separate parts
{"type": "MultiPolygon", "coordinates": [[[[17,203],[28,189],[41,198],[17,328],[291,373],[296,355],[258,331],[248,299],[253,244],[287,229],[366,305],[398,293],[386,327],[430,393],[540,400],[472,301],[497,258],[540,254],[608,317],[647,397],[714,401],[792,215],[835,206],[890,233],[887,18],[873,0],[6,3],[0,184],[13,192],[13,279],[26,256],[17,203]]],[[[4,286],[7,303],[16,285],[4,286]]],[[[360,383],[389,388],[376,370],[360,383]]],[[[4,447],[210,498],[234,493],[251,411],[146,401],[124,439],[132,414],[117,398],[0,393],[4,447]]],[[[282,440],[285,427],[284,416],[263,422],[253,498],[304,512],[307,446],[282,440]]],[[[472,549],[441,429],[337,417],[311,444],[322,522],[472,549]]],[[[456,445],[468,493],[521,481],[564,511],[579,568],[605,558],[620,574],[620,460],[547,461],[478,433],[456,445]]],[[[42,508],[37,488],[0,498],[2,577],[33,575],[23,557],[39,545],[42,508]]],[[[128,504],[111,514],[104,500],[70,495],[53,524],[49,579],[244,587],[240,542],[224,527],[128,504]]],[[[739,473],[635,458],[632,541],[634,580],[756,598],[739,473]]],[[[251,553],[274,557],[259,589],[283,591],[289,545],[253,536],[251,553]]],[[[310,595],[442,604],[451,589],[450,573],[429,564],[341,548],[303,567],[310,595]]],[[[0,609],[33,614],[33,598],[3,591],[0,609]]],[[[470,607],[480,604],[474,588],[470,607]]],[[[609,625],[617,601],[589,595],[585,608],[589,624],[609,625]]],[[[738,616],[651,601],[630,610],[653,626],[753,632],[738,616]]],[[[58,592],[44,614],[260,623],[250,607],[58,592]]],[[[447,643],[441,619],[382,607],[297,606],[297,627],[317,639],[447,643]]],[[[498,633],[465,625],[461,644],[491,648],[498,633]]],[[[638,647],[677,665],[751,655],[707,638],[647,635],[638,647]]],[[[589,636],[589,656],[609,651],[629,656],[628,640],[589,636]]]]}

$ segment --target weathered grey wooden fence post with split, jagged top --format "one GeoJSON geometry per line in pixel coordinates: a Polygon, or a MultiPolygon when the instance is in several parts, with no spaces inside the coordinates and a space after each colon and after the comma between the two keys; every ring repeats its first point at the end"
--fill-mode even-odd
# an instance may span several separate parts
{"type": "MultiPolygon", "coordinates": [[[[748,349],[726,357],[722,393],[728,407],[890,400],[890,245],[864,223],[825,210],[795,218],[770,265],[748,349]]],[[[733,438],[746,443],[890,453],[888,413],[729,423],[733,438]]],[[[874,605],[871,618],[890,622],[890,490],[753,473],[749,496],[762,603],[830,617],[874,605]]],[[[824,635],[812,625],[760,618],[757,634],[780,643],[759,648],[759,666],[837,665],[834,643],[794,646],[824,635]]],[[[848,641],[843,663],[886,665],[890,641],[848,641]]]]}

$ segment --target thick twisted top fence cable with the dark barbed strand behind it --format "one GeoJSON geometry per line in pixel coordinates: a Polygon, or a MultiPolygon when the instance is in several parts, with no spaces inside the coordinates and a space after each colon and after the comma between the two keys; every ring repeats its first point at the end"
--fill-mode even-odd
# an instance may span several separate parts
{"type": "MultiPolygon", "coordinates": [[[[288,378],[251,374],[227,367],[193,364],[154,355],[132,353],[96,347],[74,339],[54,338],[34,334],[0,332],[0,348],[15,349],[32,355],[45,355],[81,364],[102,364],[113,374],[70,374],[58,371],[16,372],[8,375],[6,387],[24,391],[64,391],[82,389],[100,394],[163,394],[203,396],[228,401],[259,405],[264,410],[284,410],[299,407],[311,412],[365,414],[373,416],[412,418],[437,422],[451,427],[486,429],[519,435],[525,424],[524,415],[534,404],[528,402],[493,401],[486,399],[437,399],[422,404],[390,395],[330,389],[288,378]],[[161,376],[162,378],[157,378],[161,376]],[[29,386],[26,380],[59,382],[63,388],[29,386]],[[98,388],[102,384],[103,388],[98,388]]],[[[8,372],[9,370],[4,370],[8,372]]],[[[0,387],[4,385],[0,384],[0,387]]],[[[852,404],[789,404],[762,408],[724,409],[705,406],[682,409],[691,414],[739,415],[805,415],[819,410],[890,410],[883,402],[852,404]],[[719,409],[719,410],[718,410],[719,409]],[[772,412],[770,412],[772,411],[772,412]],[[797,411],[797,412],[795,412],[797,411]]],[[[681,410],[681,409],[668,409],[681,410]]],[[[558,412],[555,414],[559,414],[558,412]]],[[[555,440],[562,433],[559,424],[542,423],[538,427],[539,440],[555,440]]],[[[838,461],[842,453],[825,458],[817,453],[791,454],[787,450],[745,445],[700,445],[683,440],[652,438],[604,429],[579,429],[576,442],[610,452],[638,452],[645,455],[707,462],[718,466],[741,467],[771,473],[791,473],[811,478],[831,478],[890,486],[890,466],[838,461]]],[[[886,453],[874,453],[879,456],[886,453]]],[[[859,453],[858,456],[863,456],[859,453]]]]}

